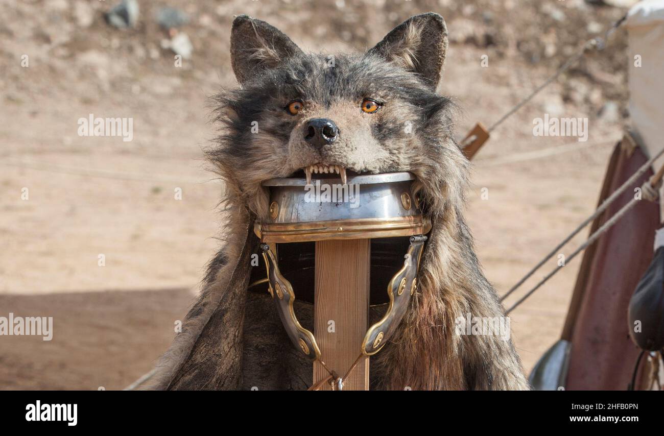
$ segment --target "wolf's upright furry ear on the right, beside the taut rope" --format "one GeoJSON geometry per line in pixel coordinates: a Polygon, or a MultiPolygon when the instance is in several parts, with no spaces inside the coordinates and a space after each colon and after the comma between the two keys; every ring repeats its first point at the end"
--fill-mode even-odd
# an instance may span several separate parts
{"type": "Polygon", "coordinates": [[[430,12],[410,17],[392,29],[369,52],[420,74],[436,89],[447,50],[448,28],[445,20],[430,12]]]}

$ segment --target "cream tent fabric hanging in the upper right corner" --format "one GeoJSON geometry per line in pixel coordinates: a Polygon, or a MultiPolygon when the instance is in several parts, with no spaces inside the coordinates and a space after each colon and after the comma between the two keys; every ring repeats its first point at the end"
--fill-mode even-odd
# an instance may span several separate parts
{"type": "MultiPolygon", "coordinates": [[[[624,25],[629,114],[645,154],[651,157],[664,147],[664,0],[640,1],[629,9],[624,25]]],[[[664,157],[655,161],[653,171],[662,165],[664,157]]]]}

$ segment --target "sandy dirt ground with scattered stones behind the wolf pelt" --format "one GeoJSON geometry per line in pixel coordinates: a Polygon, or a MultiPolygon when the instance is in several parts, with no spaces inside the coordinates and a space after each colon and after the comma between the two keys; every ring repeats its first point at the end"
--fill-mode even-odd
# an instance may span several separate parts
{"type": "MultiPolygon", "coordinates": [[[[223,186],[206,171],[201,147],[214,136],[208,96],[234,86],[234,14],[265,19],[304,48],[334,52],[368,48],[410,15],[441,13],[451,44],[440,92],[462,108],[462,137],[475,122],[498,119],[624,13],[572,0],[398,3],[169,1],[189,15],[181,31],[194,46],[193,58],[175,67],[153,19],[164,3],[141,2],[137,29],[121,31],[104,22],[112,1],[0,0],[0,316],[54,319],[50,342],[0,336],[0,389],[119,389],[167,348],[219,244],[223,186]],[[326,19],[311,26],[322,8],[326,19]],[[133,141],[78,136],[77,120],[89,113],[133,117],[133,141]]],[[[625,122],[623,49],[618,33],[613,46],[503,123],[477,155],[467,216],[499,292],[594,210],[625,122]],[[532,121],[544,113],[588,117],[588,142],[533,136],[532,121]],[[568,144],[578,146],[529,154],[568,144]]],[[[560,334],[578,264],[512,315],[527,371],[560,334]]]]}

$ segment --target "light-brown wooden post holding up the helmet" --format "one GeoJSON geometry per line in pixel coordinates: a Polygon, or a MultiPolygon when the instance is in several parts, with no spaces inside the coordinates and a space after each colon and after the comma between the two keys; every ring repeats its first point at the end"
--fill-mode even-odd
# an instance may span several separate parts
{"type": "MultiPolygon", "coordinates": [[[[343,377],[359,356],[369,328],[371,241],[316,242],[315,260],[313,336],[321,360],[343,377]]],[[[325,368],[314,362],[313,382],[327,376],[325,368]]],[[[361,358],[343,385],[344,390],[369,390],[369,358],[361,358]]],[[[326,385],[322,390],[331,388],[326,385]]]]}

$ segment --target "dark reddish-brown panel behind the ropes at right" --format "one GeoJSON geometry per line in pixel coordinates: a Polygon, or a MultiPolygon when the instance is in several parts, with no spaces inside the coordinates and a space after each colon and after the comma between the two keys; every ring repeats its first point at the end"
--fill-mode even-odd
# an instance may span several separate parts
{"type": "MultiPolygon", "coordinates": [[[[608,165],[600,202],[647,161],[640,147],[616,145],[608,165]]],[[[633,188],[651,177],[647,171],[633,188]]],[[[628,188],[592,224],[598,228],[633,198],[628,188]]],[[[584,253],[572,305],[580,307],[570,323],[568,390],[625,390],[640,352],[629,339],[627,307],[653,258],[659,206],[641,200],[584,253]]],[[[645,365],[644,365],[645,366],[645,365]]],[[[642,366],[643,368],[643,366],[642,366]]],[[[643,373],[643,371],[641,371],[643,373]]],[[[643,374],[641,374],[643,376],[643,374]]]]}

